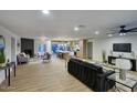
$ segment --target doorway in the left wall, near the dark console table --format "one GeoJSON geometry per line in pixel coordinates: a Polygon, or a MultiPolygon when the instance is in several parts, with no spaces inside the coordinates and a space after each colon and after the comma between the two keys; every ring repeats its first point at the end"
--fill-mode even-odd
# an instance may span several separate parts
{"type": "Polygon", "coordinates": [[[11,61],[15,62],[17,56],[15,56],[15,39],[11,38],[11,61]]]}

